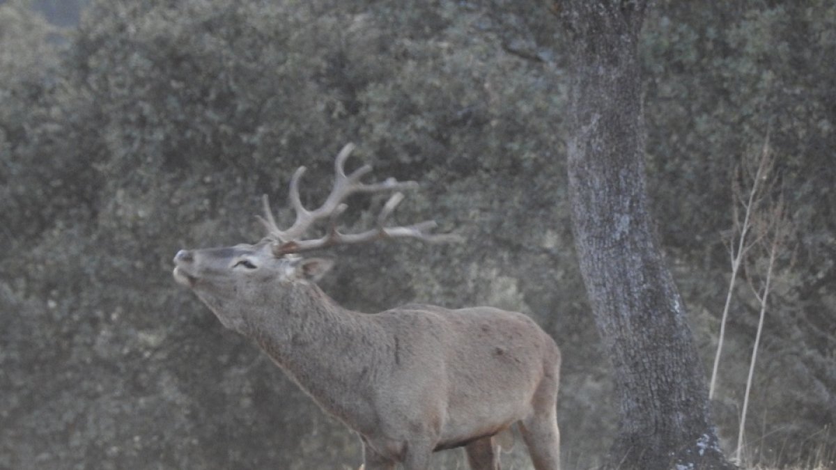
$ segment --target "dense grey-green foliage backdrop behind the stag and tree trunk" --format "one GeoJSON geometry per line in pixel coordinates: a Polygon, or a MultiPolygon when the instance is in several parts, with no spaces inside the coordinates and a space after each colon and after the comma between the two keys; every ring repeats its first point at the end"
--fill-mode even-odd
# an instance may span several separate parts
{"type": "MultiPolygon", "coordinates": [[[[319,201],[349,141],[355,165],[422,182],[402,220],[435,218],[467,243],[334,250],[324,290],[366,312],[417,301],[531,315],[563,350],[564,463],[599,462],[617,416],[573,252],[565,39],[551,8],[0,3],[0,468],[357,467],[357,439],[171,279],[179,248],[260,238],[259,198],[281,207],[297,166],[309,168],[303,199],[319,201]]],[[[655,217],[706,374],[730,276],[734,169],[770,135],[793,235],[755,370],[747,462],[827,466],[836,4],[662,0],[641,51],[655,217]]],[[[380,203],[352,200],[349,225],[380,203]]],[[[730,452],[757,307],[739,283],[712,403],[730,452]]],[[[520,447],[506,465],[528,465],[520,447]]],[[[446,453],[436,465],[462,460],[446,453]]]]}

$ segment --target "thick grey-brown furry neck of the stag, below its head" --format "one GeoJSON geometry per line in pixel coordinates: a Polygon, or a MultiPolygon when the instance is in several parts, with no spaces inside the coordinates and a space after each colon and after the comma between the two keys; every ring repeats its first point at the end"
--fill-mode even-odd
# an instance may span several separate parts
{"type": "Polygon", "coordinates": [[[308,395],[362,427],[371,371],[387,341],[371,315],[340,307],[314,284],[293,285],[275,308],[252,316],[251,337],[308,395]]]}

